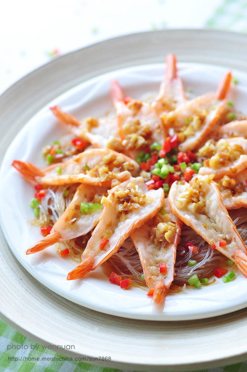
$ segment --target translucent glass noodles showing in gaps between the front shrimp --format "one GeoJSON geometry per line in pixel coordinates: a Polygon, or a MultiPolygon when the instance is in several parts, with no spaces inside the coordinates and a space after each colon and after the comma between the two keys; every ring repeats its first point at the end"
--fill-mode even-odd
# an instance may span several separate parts
{"type": "MultiPolygon", "coordinates": [[[[41,199],[40,217],[32,221],[39,226],[52,226],[59,216],[65,211],[72,200],[78,185],[56,186],[46,190],[45,196],[41,199]],[[64,192],[68,190],[69,193],[64,192]],[[65,196],[66,195],[66,196],[65,196]]],[[[242,239],[247,244],[247,209],[241,208],[229,212],[242,239]]],[[[69,249],[71,257],[76,261],[81,261],[81,254],[85,248],[91,233],[80,236],[70,241],[57,243],[57,250],[69,249]]],[[[226,264],[226,257],[211,246],[193,229],[183,224],[181,240],[177,247],[175,275],[171,289],[178,290],[177,286],[188,283],[188,279],[197,274],[199,279],[210,278],[215,269],[226,264]],[[185,244],[192,241],[198,247],[198,253],[192,252],[192,249],[185,248],[185,244]],[[196,260],[195,266],[188,266],[188,261],[196,260]]],[[[111,272],[122,275],[124,278],[132,279],[133,285],[145,288],[145,280],[141,278],[143,274],[139,255],[131,241],[127,238],[119,251],[109,260],[102,264],[105,274],[109,277],[111,272]]]]}

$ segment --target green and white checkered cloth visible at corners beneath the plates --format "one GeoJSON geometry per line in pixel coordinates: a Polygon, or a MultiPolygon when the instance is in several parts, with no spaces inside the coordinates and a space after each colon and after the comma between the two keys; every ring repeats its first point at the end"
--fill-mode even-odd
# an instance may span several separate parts
{"type": "MultiPolygon", "coordinates": [[[[246,20],[247,0],[225,0],[205,26],[245,32],[246,20]]],[[[34,343],[0,320],[0,372],[121,372],[73,360],[46,346],[34,343]]],[[[247,363],[201,372],[247,372],[247,363]]]]}

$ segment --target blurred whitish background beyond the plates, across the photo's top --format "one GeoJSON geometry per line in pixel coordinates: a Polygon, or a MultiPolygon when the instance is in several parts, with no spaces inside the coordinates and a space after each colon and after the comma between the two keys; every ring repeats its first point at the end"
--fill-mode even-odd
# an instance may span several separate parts
{"type": "Polygon", "coordinates": [[[166,28],[246,32],[247,0],[4,1],[0,93],[51,58],[114,36],[166,28]]]}

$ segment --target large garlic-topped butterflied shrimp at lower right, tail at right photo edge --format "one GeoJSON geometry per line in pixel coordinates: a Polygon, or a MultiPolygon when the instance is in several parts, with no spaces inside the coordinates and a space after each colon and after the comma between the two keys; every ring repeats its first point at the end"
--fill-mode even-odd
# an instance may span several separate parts
{"type": "Polygon", "coordinates": [[[213,175],[198,176],[188,184],[174,182],[168,200],[172,212],[235,262],[247,277],[247,249],[222,201],[213,175]],[[241,254],[240,254],[241,252],[241,254]]]}

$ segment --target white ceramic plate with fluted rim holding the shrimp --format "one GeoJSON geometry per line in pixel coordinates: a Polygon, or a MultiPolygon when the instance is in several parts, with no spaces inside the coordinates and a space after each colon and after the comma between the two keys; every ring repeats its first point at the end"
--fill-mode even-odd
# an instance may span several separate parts
{"type": "MultiPolygon", "coordinates": [[[[185,88],[200,95],[214,91],[227,70],[212,65],[180,63],[179,73],[185,88]]],[[[212,286],[191,288],[168,294],[165,307],[156,307],[140,288],[122,290],[109,282],[101,268],[82,280],[67,281],[76,264],[56,254],[50,247],[35,255],[25,255],[26,249],[41,239],[37,227],[31,226],[33,211],[29,201],[34,189],[10,167],[13,159],[28,160],[44,167],[43,145],[52,143],[66,132],[49,110],[59,104],[79,119],[97,116],[112,109],[109,86],[112,79],[120,81],[127,95],[140,97],[143,93],[158,92],[163,78],[164,64],[134,66],[98,76],[57,97],[39,111],[10,144],[3,159],[0,179],[0,217],[9,246],[20,263],[41,283],[63,297],[93,310],[128,318],[146,320],[188,320],[225,314],[244,308],[247,304],[246,278],[239,274],[229,283],[221,279],[212,286]],[[21,239],[20,239],[21,236],[21,239]]],[[[233,71],[239,80],[229,96],[236,108],[247,114],[247,74],[233,71]]],[[[48,83],[47,83],[48,84],[48,83]]]]}

